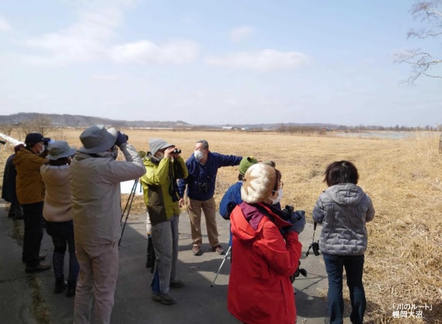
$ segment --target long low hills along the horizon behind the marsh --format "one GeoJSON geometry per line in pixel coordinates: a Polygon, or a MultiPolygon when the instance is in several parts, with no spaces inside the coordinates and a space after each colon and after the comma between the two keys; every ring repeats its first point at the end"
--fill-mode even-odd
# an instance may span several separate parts
{"type": "MultiPolygon", "coordinates": [[[[222,127],[232,127],[232,128],[247,128],[247,129],[264,129],[264,130],[276,130],[282,123],[276,124],[218,124],[218,125],[195,125],[182,122],[180,120],[176,122],[159,122],[159,121],[127,121],[127,120],[110,120],[108,118],[102,117],[90,117],[83,115],[68,115],[68,114],[44,114],[44,113],[17,113],[13,115],[0,115],[0,125],[1,124],[20,124],[21,122],[26,122],[33,120],[38,116],[50,117],[53,126],[59,127],[88,127],[92,125],[109,125],[117,128],[122,127],[133,127],[133,128],[206,128],[206,129],[217,129],[222,127]]],[[[302,127],[312,127],[312,128],[330,128],[336,129],[339,126],[335,124],[298,124],[298,123],[284,123],[285,126],[302,126],[302,127]]]]}

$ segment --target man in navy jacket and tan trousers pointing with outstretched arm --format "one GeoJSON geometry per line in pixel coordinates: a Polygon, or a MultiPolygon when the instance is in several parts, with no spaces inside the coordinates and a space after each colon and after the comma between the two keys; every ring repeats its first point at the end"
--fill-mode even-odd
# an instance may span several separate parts
{"type": "Polygon", "coordinates": [[[223,254],[218,241],[218,228],[215,219],[215,181],[218,169],[222,166],[236,166],[240,164],[242,156],[222,155],[209,151],[209,143],[206,140],[198,140],[195,143],[193,155],[186,161],[189,176],[180,179],[178,190],[180,193],[180,205],[184,203],[184,191],[186,191],[186,209],[191,221],[191,235],[193,240],[192,253],[200,255],[202,245],[201,211],[206,218],[207,236],[209,243],[218,254],[223,254]]]}

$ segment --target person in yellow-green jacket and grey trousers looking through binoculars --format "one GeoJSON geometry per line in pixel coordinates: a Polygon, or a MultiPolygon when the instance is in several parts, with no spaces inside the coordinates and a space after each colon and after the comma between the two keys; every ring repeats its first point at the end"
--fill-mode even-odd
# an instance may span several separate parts
{"type": "Polygon", "coordinates": [[[146,174],[141,178],[148,216],[151,220],[151,238],[155,251],[152,279],[152,299],[164,305],[175,303],[169,287],[182,287],[177,278],[178,220],[180,195],[177,179],[187,178],[188,172],[180,150],[164,140],[152,138],[150,151],[144,158],[146,174]]]}

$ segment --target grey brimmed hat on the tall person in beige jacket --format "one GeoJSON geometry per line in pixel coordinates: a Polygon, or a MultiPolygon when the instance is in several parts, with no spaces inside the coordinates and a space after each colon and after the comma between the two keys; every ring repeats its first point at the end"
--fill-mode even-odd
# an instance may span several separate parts
{"type": "Polygon", "coordinates": [[[106,129],[104,125],[95,125],[86,128],[80,135],[81,144],[78,151],[83,153],[102,153],[111,149],[117,142],[117,130],[115,128],[106,129]]]}

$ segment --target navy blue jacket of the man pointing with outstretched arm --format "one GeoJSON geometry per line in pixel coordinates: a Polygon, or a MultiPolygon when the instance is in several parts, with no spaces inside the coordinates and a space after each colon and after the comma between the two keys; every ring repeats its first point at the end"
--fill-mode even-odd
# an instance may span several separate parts
{"type": "Polygon", "coordinates": [[[180,179],[178,191],[180,197],[184,196],[187,185],[187,197],[195,200],[208,200],[215,193],[215,181],[218,169],[222,166],[236,166],[240,164],[242,156],[222,155],[209,151],[205,164],[200,163],[195,156],[191,155],[186,161],[189,176],[180,179]]]}

